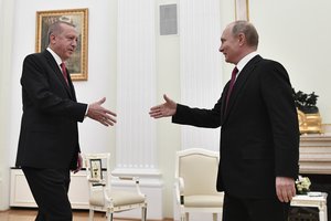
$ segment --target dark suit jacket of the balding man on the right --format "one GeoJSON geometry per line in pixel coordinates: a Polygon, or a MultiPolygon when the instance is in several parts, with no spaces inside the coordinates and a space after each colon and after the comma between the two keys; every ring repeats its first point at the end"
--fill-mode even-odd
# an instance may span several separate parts
{"type": "Polygon", "coordinates": [[[173,123],[221,126],[217,190],[239,198],[276,196],[276,177],[298,176],[299,125],[284,66],[253,57],[239,73],[225,113],[229,82],[212,109],[178,105],[173,123]]]}

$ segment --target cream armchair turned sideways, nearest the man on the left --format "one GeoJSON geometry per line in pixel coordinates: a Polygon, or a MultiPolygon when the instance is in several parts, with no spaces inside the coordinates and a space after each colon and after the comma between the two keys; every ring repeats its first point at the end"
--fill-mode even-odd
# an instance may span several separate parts
{"type": "Polygon", "coordinates": [[[86,177],[89,187],[89,221],[94,211],[105,211],[108,221],[113,221],[115,212],[141,209],[141,220],[146,221],[147,199],[139,189],[139,180],[135,177],[114,177],[110,175],[110,154],[84,155],[86,177]],[[134,182],[137,191],[115,190],[110,179],[134,182]]]}

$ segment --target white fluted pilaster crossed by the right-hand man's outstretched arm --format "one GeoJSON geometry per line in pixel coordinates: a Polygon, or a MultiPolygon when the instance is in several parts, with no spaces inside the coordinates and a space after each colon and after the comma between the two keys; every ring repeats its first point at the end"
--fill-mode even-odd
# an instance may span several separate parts
{"type": "MultiPolygon", "coordinates": [[[[222,93],[218,0],[180,0],[181,102],[212,108],[222,93]]],[[[218,150],[220,129],[182,127],[182,149],[218,150]]]]}

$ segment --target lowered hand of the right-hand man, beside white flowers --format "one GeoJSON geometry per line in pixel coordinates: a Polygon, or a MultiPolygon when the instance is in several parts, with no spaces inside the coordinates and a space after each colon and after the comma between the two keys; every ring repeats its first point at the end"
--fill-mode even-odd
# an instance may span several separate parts
{"type": "Polygon", "coordinates": [[[296,182],[293,178],[276,177],[276,192],[280,202],[289,202],[296,196],[296,182]]]}

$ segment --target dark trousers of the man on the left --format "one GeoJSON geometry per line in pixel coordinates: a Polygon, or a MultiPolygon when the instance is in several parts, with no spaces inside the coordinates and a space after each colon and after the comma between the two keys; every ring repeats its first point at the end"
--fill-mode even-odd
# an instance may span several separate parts
{"type": "Polygon", "coordinates": [[[35,221],[72,221],[70,169],[22,168],[39,207],[35,221]]]}

